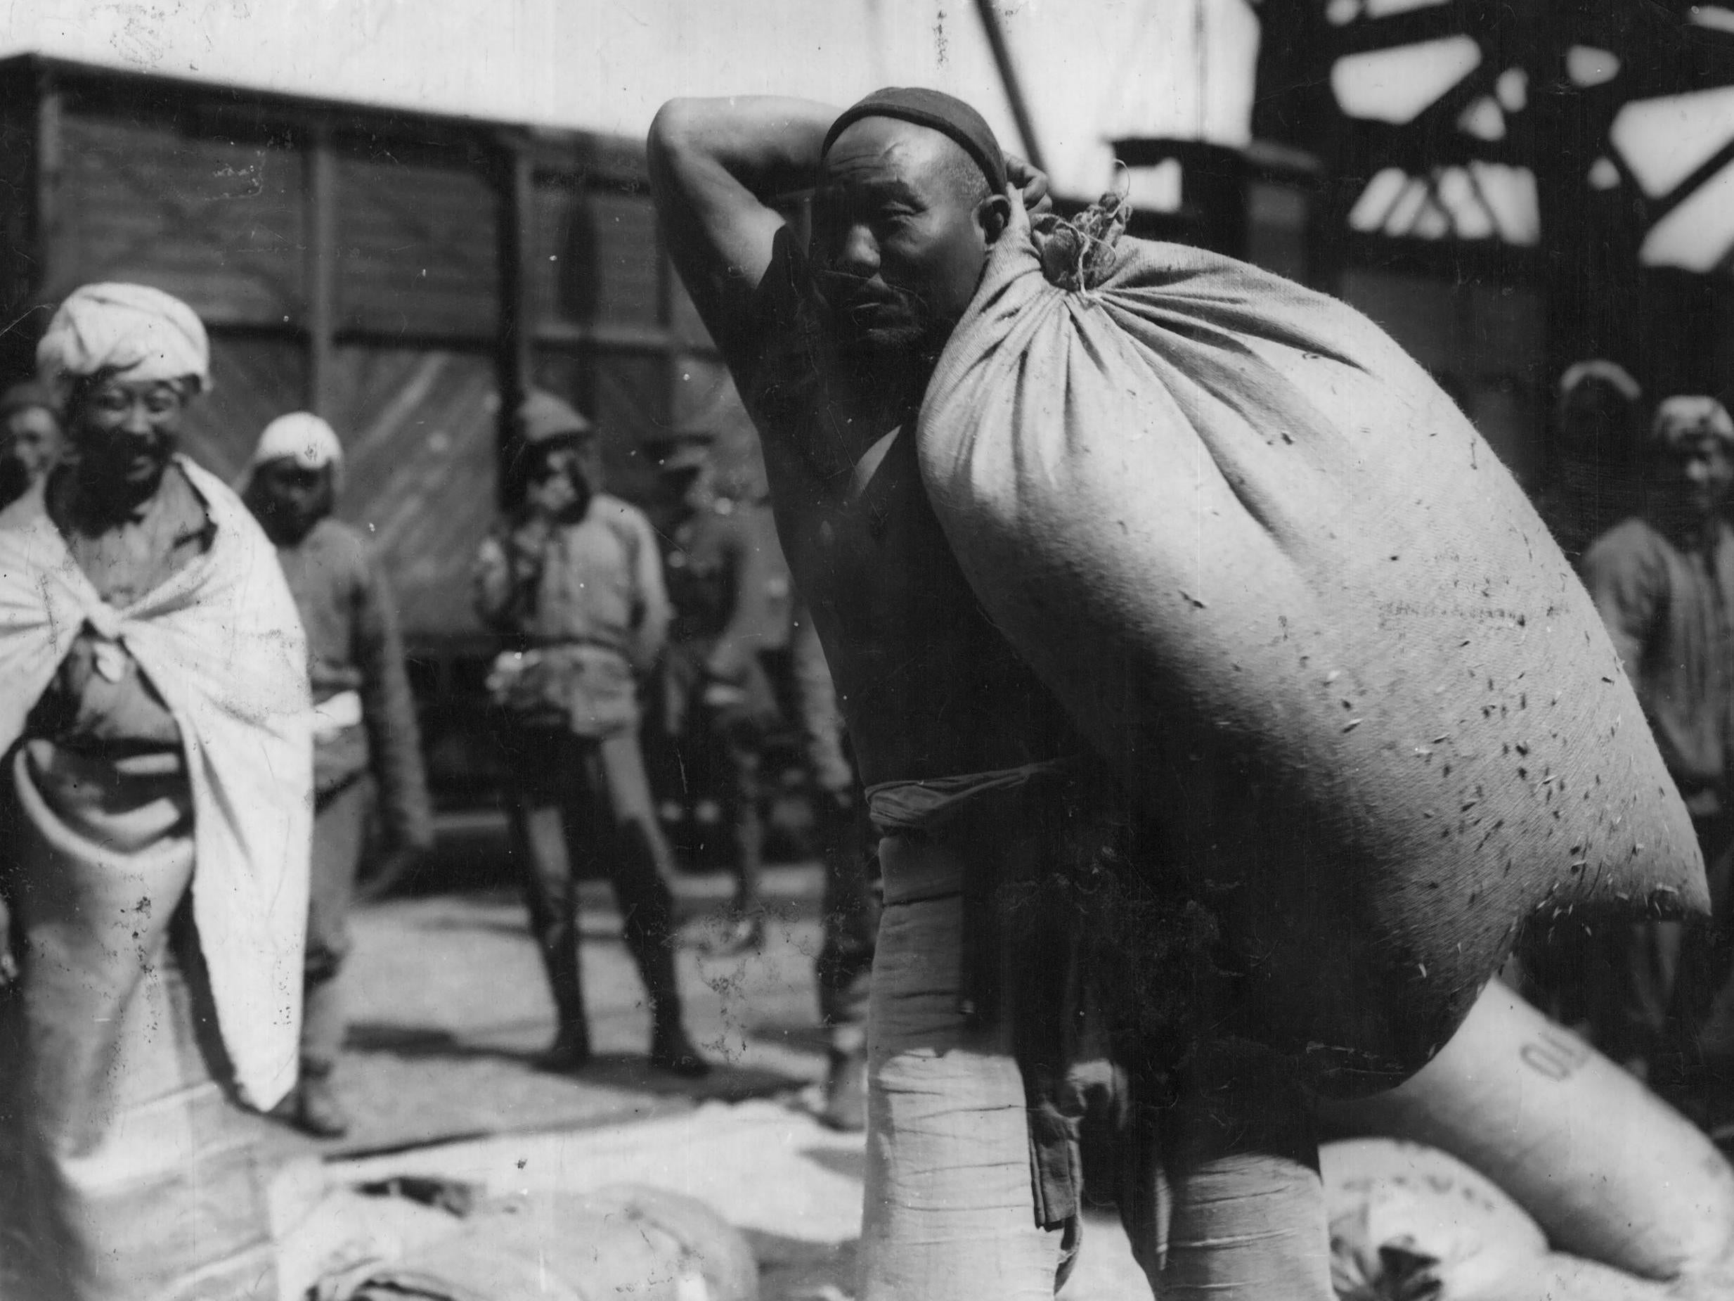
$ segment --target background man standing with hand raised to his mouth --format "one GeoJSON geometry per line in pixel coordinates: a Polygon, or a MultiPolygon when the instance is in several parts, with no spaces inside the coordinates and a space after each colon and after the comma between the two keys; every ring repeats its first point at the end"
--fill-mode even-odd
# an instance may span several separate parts
{"type": "Polygon", "coordinates": [[[704,1075],[681,1025],[673,864],[638,748],[638,677],[669,621],[655,534],[638,508],[595,487],[577,411],[534,392],[518,425],[524,505],[482,541],[475,609],[512,644],[489,690],[503,716],[513,857],[558,1017],[544,1060],[558,1070],[590,1062],[577,881],[593,864],[614,885],[650,996],[650,1063],[704,1075]]]}

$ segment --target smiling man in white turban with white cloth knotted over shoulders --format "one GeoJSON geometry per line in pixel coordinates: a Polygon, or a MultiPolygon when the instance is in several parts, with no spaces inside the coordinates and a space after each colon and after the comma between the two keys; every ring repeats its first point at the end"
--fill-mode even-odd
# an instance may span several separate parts
{"type": "Polygon", "coordinates": [[[302,624],[251,515],[175,454],[210,369],[186,304],[78,290],[38,363],[68,451],[0,513],[0,1298],[255,1296],[234,1110],[295,1079],[302,624]]]}

